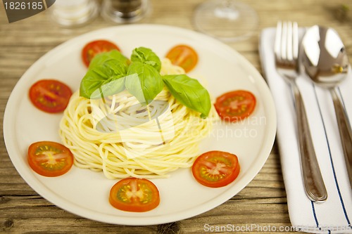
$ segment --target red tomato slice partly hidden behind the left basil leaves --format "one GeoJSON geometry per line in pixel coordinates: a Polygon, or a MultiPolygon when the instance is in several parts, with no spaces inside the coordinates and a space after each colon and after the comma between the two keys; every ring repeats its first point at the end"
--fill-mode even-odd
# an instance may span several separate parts
{"type": "Polygon", "coordinates": [[[82,49],[82,60],[84,65],[89,67],[90,61],[96,56],[97,53],[103,53],[108,51],[117,50],[120,51],[120,48],[113,44],[111,41],[106,40],[96,40],[91,41],[86,44],[82,49]]]}

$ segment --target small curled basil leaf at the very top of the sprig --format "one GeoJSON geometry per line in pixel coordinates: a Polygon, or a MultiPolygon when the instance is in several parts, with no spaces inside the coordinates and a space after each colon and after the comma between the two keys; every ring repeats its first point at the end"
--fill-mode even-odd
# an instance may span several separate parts
{"type": "Polygon", "coordinates": [[[158,72],[161,70],[161,60],[150,48],[139,47],[132,51],[131,61],[151,65],[158,72]]]}

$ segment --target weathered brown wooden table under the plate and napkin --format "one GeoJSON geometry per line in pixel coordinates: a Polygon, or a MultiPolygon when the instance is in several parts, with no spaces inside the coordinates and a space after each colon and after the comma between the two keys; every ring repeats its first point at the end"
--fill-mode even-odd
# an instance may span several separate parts
{"type": "MultiPolygon", "coordinates": [[[[194,30],[191,15],[202,0],[152,0],[151,24],[173,25],[194,30]]],[[[346,44],[352,58],[352,9],[348,18],[337,19],[336,8],[351,1],[319,0],[243,0],[256,9],[259,27],[256,35],[230,46],[245,56],[260,72],[258,35],[277,20],[294,20],[300,26],[321,24],[334,27],[346,44]]],[[[111,26],[97,18],[76,30],[56,27],[47,13],[40,13],[9,24],[0,7],[0,129],[8,96],[25,70],[58,44],[77,35],[111,26]]],[[[99,223],[65,212],[44,200],[23,181],[13,167],[0,136],[0,233],[203,233],[205,224],[238,227],[290,227],[287,198],[282,179],[279,152],[275,144],[259,174],[240,193],[225,204],[191,219],[158,226],[118,226],[99,223]]],[[[260,233],[259,228],[242,229],[237,233],[260,233]]],[[[293,230],[288,233],[294,233],[293,230]]]]}

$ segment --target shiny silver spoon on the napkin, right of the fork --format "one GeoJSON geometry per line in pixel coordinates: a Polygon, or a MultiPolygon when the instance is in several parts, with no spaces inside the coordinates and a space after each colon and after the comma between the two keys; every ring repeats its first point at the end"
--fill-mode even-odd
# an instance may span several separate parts
{"type": "Polygon", "coordinates": [[[352,188],[352,131],[346,110],[336,87],[347,77],[348,56],[339,34],[329,27],[315,25],[302,39],[301,64],[308,77],[329,89],[334,103],[341,145],[344,150],[348,178],[352,188]]]}

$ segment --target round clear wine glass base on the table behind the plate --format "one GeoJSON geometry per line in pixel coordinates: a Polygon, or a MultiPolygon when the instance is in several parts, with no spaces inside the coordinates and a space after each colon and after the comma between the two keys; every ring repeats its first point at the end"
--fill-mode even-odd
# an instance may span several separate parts
{"type": "Polygon", "coordinates": [[[194,27],[222,41],[241,41],[256,32],[258,15],[237,0],[205,1],[194,11],[194,27]]]}

